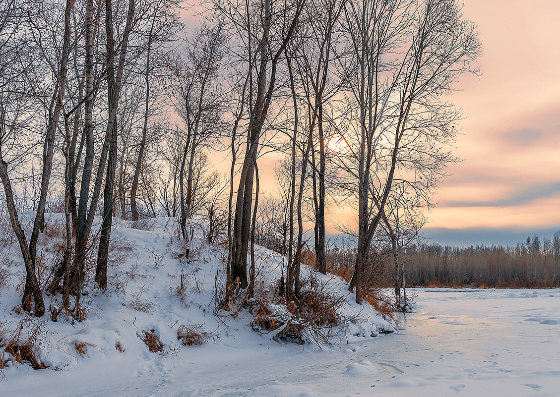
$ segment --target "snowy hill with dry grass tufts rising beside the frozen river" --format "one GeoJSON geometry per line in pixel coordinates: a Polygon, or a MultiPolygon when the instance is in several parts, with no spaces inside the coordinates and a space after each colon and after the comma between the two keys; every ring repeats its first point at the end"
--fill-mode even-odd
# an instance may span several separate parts
{"type": "MultiPolygon", "coordinates": [[[[38,251],[42,285],[63,245],[62,220],[60,214],[50,214],[46,219],[38,251]]],[[[196,225],[193,228],[196,230],[196,225]]],[[[195,233],[186,260],[182,255],[185,243],[177,235],[172,218],[118,221],[111,240],[108,289],[101,292],[91,281],[87,283],[82,298],[87,318],[82,322],[73,321],[63,312],[53,322],[49,310],[39,318],[18,314],[24,268],[16,242],[4,241],[0,253],[10,260],[4,260],[0,268],[0,341],[4,348],[14,341],[29,345],[36,362],[2,349],[3,381],[30,376],[50,381],[50,377],[60,379],[77,371],[99,379],[105,373],[122,373],[133,379],[154,374],[168,378],[179,368],[184,371],[201,363],[234,363],[261,354],[284,356],[320,348],[340,351],[348,342],[395,330],[392,321],[378,315],[367,303],[353,303],[354,296],[348,293],[343,279],[306,266],[302,267],[302,279],[320,285],[321,291],[337,302],[337,315],[344,321],[329,327],[328,333],[320,326],[306,326],[302,331],[305,345],[277,337],[281,329],[259,329],[255,321],[259,310],[279,322],[301,322],[286,306],[267,299],[274,295],[285,259],[261,247],[255,252],[255,297],[246,307],[214,314],[216,285],[221,283],[227,253],[221,246],[205,244],[202,235],[195,233]],[[31,366],[46,369],[34,371],[31,366]]],[[[52,309],[60,307],[60,296],[45,295],[45,307],[51,308],[52,315],[52,309]]]]}

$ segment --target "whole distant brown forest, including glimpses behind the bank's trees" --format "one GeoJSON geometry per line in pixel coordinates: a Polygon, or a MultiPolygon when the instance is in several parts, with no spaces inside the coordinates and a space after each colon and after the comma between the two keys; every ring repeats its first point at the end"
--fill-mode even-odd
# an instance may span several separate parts
{"type": "MultiPolygon", "coordinates": [[[[282,253],[281,239],[268,235],[260,243],[282,253]]],[[[370,252],[367,279],[379,288],[393,287],[397,275],[405,287],[560,287],[560,231],[553,237],[528,237],[516,246],[419,243],[396,253],[389,242],[379,239],[370,252]]],[[[312,249],[304,259],[314,265],[312,249]]],[[[356,251],[351,243],[330,246],[326,259],[330,272],[348,279],[352,276],[356,251]]]]}

